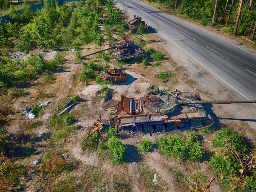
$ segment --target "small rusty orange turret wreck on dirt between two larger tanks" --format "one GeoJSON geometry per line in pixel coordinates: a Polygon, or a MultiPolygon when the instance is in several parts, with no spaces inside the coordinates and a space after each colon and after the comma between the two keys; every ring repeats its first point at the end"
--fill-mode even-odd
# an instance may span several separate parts
{"type": "Polygon", "coordinates": [[[99,71],[99,76],[104,80],[115,82],[124,82],[127,80],[127,74],[121,67],[111,67],[106,70],[99,71]]]}

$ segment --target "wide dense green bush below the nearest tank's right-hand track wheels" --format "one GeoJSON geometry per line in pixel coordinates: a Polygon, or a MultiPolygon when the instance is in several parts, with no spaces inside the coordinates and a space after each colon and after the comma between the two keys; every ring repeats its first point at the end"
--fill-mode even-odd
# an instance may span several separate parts
{"type": "Polygon", "coordinates": [[[159,137],[157,146],[166,156],[181,160],[198,161],[203,156],[203,148],[199,142],[183,140],[178,134],[159,137]]]}

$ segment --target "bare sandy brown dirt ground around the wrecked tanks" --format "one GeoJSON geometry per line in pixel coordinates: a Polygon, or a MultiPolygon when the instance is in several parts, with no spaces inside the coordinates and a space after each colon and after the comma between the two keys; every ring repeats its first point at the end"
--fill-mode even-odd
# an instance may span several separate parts
{"type": "MultiPolygon", "coordinates": [[[[23,116],[21,113],[27,106],[31,106],[40,100],[50,101],[49,105],[44,108],[41,116],[37,118],[37,121],[41,122],[41,126],[32,130],[30,133],[33,137],[37,138],[34,144],[36,152],[23,160],[23,163],[26,163],[31,168],[26,174],[26,177],[22,180],[25,191],[38,191],[38,188],[43,185],[43,183],[40,182],[40,173],[35,166],[32,165],[32,160],[41,158],[42,152],[45,150],[47,133],[50,129],[48,124],[49,116],[55,111],[55,106],[63,103],[70,94],[78,94],[81,99],[84,100],[84,102],[76,105],[71,111],[72,113],[79,114],[75,124],[80,125],[80,128],[66,141],[65,146],[65,153],[69,155],[69,158],[80,163],[79,168],[76,169],[77,176],[86,175],[86,172],[82,169],[83,166],[92,166],[95,169],[103,170],[105,177],[110,177],[109,183],[104,188],[105,191],[112,190],[112,180],[124,177],[126,182],[129,183],[131,191],[134,192],[147,191],[147,189],[145,189],[145,183],[141,179],[140,166],[147,166],[153,170],[153,172],[157,174],[157,178],[162,180],[163,191],[166,192],[184,191],[183,186],[177,183],[175,176],[169,171],[170,168],[180,170],[183,175],[193,175],[197,170],[204,172],[208,180],[214,177],[212,169],[209,167],[207,161],[204,160],[200,163],[182,162],[174,158],[167,158],[156,149],[153,149],[144,156],[137,153],[135,147],[143,138],[147,137],[154,142],[160,135],[174,134],[174,132],[146,135],[138,134],[138,136],[135,137],[128,133],[128,131],[120,131],[118,137],[121,138],[123,145],[127,147],[126,160],[122,165],[113,165],[110,160],[106,158],[102,159],[97,152],[89,153],[81,149],[80,143],[84,135],[90,130],[93,122],[96,122],[99,115],[101,115],[103,123],[107,122],[106,119],[111,113],[111,106],[118,103],[120,94],[132,97],[144,96],[150,85],[157,85],[161,89],[169,88],[174,90],[177,88],[182,92],[195,92],[200,94],[203,100],[239,99],[236,93],[223,85],[207,71],[198,67],[194,61],[187,58],[183,52],[180,52],[172,44],[169,44],[159,36],[153,34],[143,35],[143,39],[147,41],[146,47],[154,47],[155,50],[160,50],[166,55],[166,60],[158,67],[152,67],[152,65],[143,67],[141,63],[136,61],[123,65],[123,69],[128,74],[128,80],[124,83],[108,85],[113,95],[111,100],[107,102],[102,99],[98,104],[94,98],[96,93],[102,88],[102,85],[95,84],[93,81],[90,82],[89,85],[85,85],[83,81],[79,80],[83,65],[81,61],[76,61],[73,52],[70,51],[64,52],[66,59],[64,69],[55,72],[56,80],[52,84],[44,84],[42,83],[42,79],[39,78],[24,88],[28,95],[17,99],[6,100],[6,103],[11,103],[15,109],[15,113],[8,117],[9,124],[7,125],[8,131],[13,134],[20,134],[22,131],[20,129],[20,117],[23,116]],[[154,77],[155,74],[166,71],[175,73],[175,77],[169,79],[167,82],[163,82],[163,80],[154,77]]],[[[89,44],[83,47],[84,49],[81,50],[81,55],[86,55],[90,52],[107,47],[107,44],[100,48],[89,44]]],[[[36,52],[39,52],[39,50],[35,50],[34,53],[36,52]]],[[[54,57],[56,52],[48,51],[42,54],[49,60],[54,57]]],[[[24,56],[25,55],[20,55],[16,56],[16,58],[23,58],[24,56]]],[[[86,58],[85,62],[91,60],[96,61],[98,64],[102,62],[98,55],[92,55],[86,58]]],[[[151,64],[153,63],[154,62],[151,62],[151,64]]],[[[114,66],[111,62],[110,65],[114,66]]],[[[206,109],[214,118],[215,130],[229,125],[248,138],[252,140],[256,139],[256,122],[245,121],[246,119],[256,119],[255,106],[236,104],[206,105],[206,109]]],[[[189,131],[176,131],[176,133],[180,134],[182,137],[186,137],[189,131]]],[[[211,140],[212,137],[206,137],[206,139],[211,140]]],[[[201,141],[201,143],[204,148],[209,148],[208,142],[201,141]]],[[[211,183],[208,191],[222,191],[221,185],[216,179],[211,183]]]]}

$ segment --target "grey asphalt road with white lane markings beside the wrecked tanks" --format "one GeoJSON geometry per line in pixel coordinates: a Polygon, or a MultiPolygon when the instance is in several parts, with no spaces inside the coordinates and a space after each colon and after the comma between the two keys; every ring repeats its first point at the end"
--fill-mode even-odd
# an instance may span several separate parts
{"type": "MultiPolygon", "coordinates": [[[[181,49],[244,99],[256,100],[256,54],[137,0],[114,0],[139,15],[166,41],[181,49]]],[[[218,35],[218,34],[217,34],[218,35]]]]}

